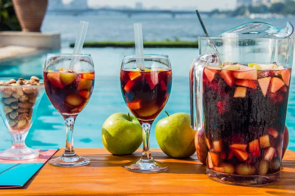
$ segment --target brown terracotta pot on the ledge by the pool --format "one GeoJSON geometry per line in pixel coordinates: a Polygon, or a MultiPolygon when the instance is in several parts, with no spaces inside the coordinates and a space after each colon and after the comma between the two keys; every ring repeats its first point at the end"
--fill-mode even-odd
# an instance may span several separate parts
{"type": "Polygon", "coordinates": [[[23,31],[40,32],[48,0],[12,0],[23,31]]]}

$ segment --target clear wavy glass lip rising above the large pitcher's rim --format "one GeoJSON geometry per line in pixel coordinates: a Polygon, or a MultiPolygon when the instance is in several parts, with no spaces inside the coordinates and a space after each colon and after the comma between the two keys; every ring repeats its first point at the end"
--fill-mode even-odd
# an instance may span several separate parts
{"type": "Polygon", "coordinates": [[[261,22],[250,22],[238,25],[220,35],[214,37],[220,38],[287,38],[292,35],[293,25],[287,22],[286,28],[277,28],[273,25],[261,22]]]}

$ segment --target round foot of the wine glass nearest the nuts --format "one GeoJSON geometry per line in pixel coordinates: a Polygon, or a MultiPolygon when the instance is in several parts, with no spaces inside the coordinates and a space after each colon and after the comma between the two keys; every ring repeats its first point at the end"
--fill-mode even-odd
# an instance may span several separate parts
{"type": "Polygon", "coordinates": [[[58,158],[49,160],[48,163],[52,166],[72,168],[88,165],[90,159],[79,156],[76,153],[73,156],[65,156],[62,154],[58,158]]]}

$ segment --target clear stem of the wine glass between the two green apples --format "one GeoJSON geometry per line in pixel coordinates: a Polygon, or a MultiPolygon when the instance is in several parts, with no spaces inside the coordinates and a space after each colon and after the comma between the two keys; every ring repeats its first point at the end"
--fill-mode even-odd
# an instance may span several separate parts
{"type": "Polygon", "coordinates": [[[140,161],[151,161],[151,153],[149,150],[149,132],[151,123],[141,123],[143,130],[143,153],[140,161]]]}

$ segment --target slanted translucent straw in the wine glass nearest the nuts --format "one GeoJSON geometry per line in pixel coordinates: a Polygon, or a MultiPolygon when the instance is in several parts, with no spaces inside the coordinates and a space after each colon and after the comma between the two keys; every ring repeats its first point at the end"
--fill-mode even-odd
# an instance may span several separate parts
{"type": "MultiPolygon", "coordinates": [[[[86,37],[88,24],[89,24],[88,22],[80,21],[73,54],[81,54],[85,37],[86,37]]],[[[80,60],[80,57],[72,56],[71,63],[70,63],[70,70],[74,69],[75,63],[77,63],[79,60],[80,60]]]]}

